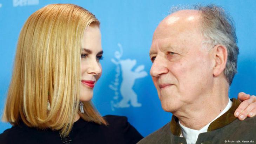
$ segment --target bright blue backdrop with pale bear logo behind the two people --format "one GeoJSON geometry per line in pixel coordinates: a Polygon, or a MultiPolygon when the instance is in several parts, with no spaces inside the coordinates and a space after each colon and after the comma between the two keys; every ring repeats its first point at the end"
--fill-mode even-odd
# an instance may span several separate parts
{"type": "MultiPolygon", "coordinates": [[[[171,6],[198,2],[223,6],[233,16],[240,55],[238,74],[229,94],[230,97],[237,97],[238,92],[244,91],[255,95],[255,1],[0,0],[0,116],[3,113],[15,47],[23,24],[29,15],[45,5],[72,3],[88,9],[101,22],[105,59],[102,60],[102,77],[94,91],[93,102],[96,108],[102,115],[127,116],[128,121],[143,136],[147,136],[171,119],[171,114],[162,110],[149,75],[149,49],[154,29],[168,15],[171,6]],[[123,98],[127,98],[128,102],[123,98]]],[[[0,122],[0,133],[10,127],[10,124],[0,122]]]]}

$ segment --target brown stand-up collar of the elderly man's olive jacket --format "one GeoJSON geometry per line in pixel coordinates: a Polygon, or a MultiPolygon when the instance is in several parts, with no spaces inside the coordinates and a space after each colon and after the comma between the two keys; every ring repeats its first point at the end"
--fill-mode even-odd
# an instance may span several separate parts
{"type": "MultiPolygon", "coordinates": [[[[231,108],[227,112],[225,112],[223,115],[215,119],[215,121],[213,121],[209,125],[208,131],[213,131],[213,130],[222,128],[223,126],[230,124],[236,119],[236,117],[234,116],[234,113],[241,102],[236,100],[235,98],[232,98],[231,101],[233,102],[231,108]]],[[[178,118],[175,117],[174,115],[171,118],[170,127],[173,135],[176,135],[176,136],[181,135],[181,127],[180,127],[180,124],[178,123],[178,118]]]]}

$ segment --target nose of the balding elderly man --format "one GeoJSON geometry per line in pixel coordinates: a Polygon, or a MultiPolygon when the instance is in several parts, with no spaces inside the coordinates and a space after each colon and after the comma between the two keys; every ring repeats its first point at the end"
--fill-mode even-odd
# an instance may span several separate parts
{"type": "Polygon", "coordinates": [[[158,77],[161,74],[168,73],[167,60],[162,56],[157,56],[151,66],[150,75],[158,77]]]}

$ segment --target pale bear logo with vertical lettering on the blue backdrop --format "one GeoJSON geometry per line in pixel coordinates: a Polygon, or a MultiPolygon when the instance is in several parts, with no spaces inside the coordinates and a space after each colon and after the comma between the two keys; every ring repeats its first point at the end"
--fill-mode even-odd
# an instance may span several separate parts
{"type": "Polygon", "coordinates": [[[118,46],[120,51],[116,51],[115,59],[111,59],[116,65],[115,80],[112,81],[112,84],[109,84],[109,88],[115,91],[115,96],[111,101],[112,110],[114,108],[128,108],[130,105],[132,107],[141,107],[141,103],[137,100],[137,94],[133,90],[133,85],[136,79],[146,77],[148,74],[144,71],[144,65],[137,66],[133,71],[132,69],[136,66],[137,61],[131,59],[122,60],[122,45],[119,43],[118,46]],[[119,89],[120,75],[122,75],[122,82],[119,89]],[[119,91],[121,97],[119,96],[119,91]]]}

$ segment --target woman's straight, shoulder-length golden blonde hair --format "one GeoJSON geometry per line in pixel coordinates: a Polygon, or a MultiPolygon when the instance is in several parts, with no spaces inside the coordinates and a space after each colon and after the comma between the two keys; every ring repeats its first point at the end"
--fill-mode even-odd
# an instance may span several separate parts
{"type": "MultiPolygon", "coordinates": [[[[28,18],[17,44],[3,121],[68,135],[79,108],[82,37],[89,25],[100,22],[72,4],[47,5],[28,18]]],[[[83,104],[81,118],[106,125],[90,102],[83,104]]]]}

